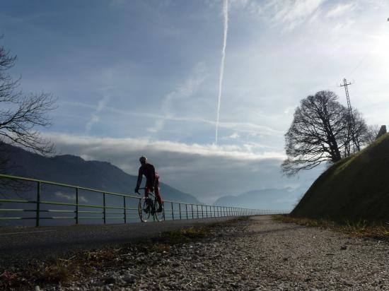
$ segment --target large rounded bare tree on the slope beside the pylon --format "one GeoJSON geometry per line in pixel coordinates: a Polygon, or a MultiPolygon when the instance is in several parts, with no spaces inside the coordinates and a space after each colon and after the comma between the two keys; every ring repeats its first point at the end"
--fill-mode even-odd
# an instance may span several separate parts
{"type": "MultiPolygon", "coordinates": [[[[331,91],[320,91],[301,100],[285,134],[287,158],[281,165],[282,172],[291,176],[350,155],[348,114],[331,91]]],[[[354,120],[354,133],[362,136],[366,131],[364,119],[354,111],[354,120]]]]}

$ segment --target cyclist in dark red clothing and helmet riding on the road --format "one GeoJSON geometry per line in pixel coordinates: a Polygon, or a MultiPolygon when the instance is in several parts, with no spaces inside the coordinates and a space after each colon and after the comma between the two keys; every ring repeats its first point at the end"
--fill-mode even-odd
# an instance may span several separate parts
{"type": "Polygon", "coordinates": [[[137,187],[135,187],[135,193],[139,191],[139,186],[141,186],[143,175],[146,176],[146,189],[144,191],[146,197],[149,197],[149,193],[154,192],[159,203],[158,212],[163,210],[163,201],[161,193],[159,192],[159,174],[156,172],[153,165],[147,162],[147,158],[141,156],[139,158],[141,162],[141,167],[139,167],[137,187]]]}

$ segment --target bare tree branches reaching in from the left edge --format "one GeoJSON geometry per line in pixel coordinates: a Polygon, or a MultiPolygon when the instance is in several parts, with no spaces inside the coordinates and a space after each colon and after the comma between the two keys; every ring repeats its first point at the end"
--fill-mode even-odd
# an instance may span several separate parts
{"type": "MultiPolygon", "coordinates": [[[[1,37],[0,37],[1,39],[1,37]]],[[[53,144],[42,138],[37,127],[51,125],[48,112],[56,108],[50,93],[25,95],[19,89],[20,78],[8,74],[17,60],[9,50],[0,47],[0,165],[6,166],[4,144],[17,145],[34,153],[50,155],[53,144]]]]}

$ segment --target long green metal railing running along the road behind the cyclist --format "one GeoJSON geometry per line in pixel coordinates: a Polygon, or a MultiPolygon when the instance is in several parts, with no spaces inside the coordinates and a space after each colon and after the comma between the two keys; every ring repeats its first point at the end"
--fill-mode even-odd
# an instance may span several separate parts
{"type": "MultiPolygon", "coordinates": [[[[33,187],[29,187],[29,191],[35,191],[35,200],[27,200],[23,198],[0,198],[0,213],[34,213],[31,217],[0,217],[0,220],[35,220],[35,226],[40,226],[40,220],[47,219],[71,219],[75,220],[76,224],[79,224],[81,220],[102,220],[104,224],[107,220],[122,220],[124,223],[128,223],[129,220],[139,218],[139,208],[128,207],[129,201],[136,203],[139,201],[140,196],[119,194],[115,192],[103,191],[98,189],[90,189],[82,186],[74,186],[63,183],[49,182],[39,179],[30,179],[25,177],[16,177],[6,174],[0,174],[0,179],[5,181],[13,182],[29,182],[35,184],[33,187]],[[75,203],[63,203],[56,201],[45,201],[41,200],[42,186],[52,185],[65,187],[67,189],[73,189],[75,203]],[[33,189],[35,188],[35,189],[33,189]],[[95,195],[101,195],[103,203],[101,205],[89,205],[85,203],[79,203],[80,191],[93,192],[95,195]],[[122,206],[107,206],[105,201],[108,196],[119,196],[122,197],[122,206]],[[4,208],[8,203],[25,203],[33,205],[32,209],[25,208],[4,208]],[[50,206],[71,206],[74,210],[58,210],[58,209],[41,209],[42,205],[50,206]],[[80,210],[80,208],[88,208],[88,210],[80,210]],[[92,210],[92,209],[99,210],[92,210]],[[108,211],[107,211],[108,210],[108,211]],[[110,210],[120,210],[120,212],[110,212],[110,210]],[[44,216],[42,213],[72,213],[71,216],[44,216]],[[81,216],[83,214],[95,214],[95,217],[81,216]],[[111,216],[109,216],[111,215],[111,216]],[[115,216],[112,216],[115,215],[115,216]]],[[[3,183],[6,185],[6,183],[3,183]]],[[[4,186],[0,185],[0,188],[4,186]]],[[[8,196],[6,193],[1,193],[0,196],[8,196]]],[[[53,195],[54,196],[54,195],[53,195]]],[[[204,204],[195,203],[183,203],[178,201],[163,201],[164,215],[163,220],[182,220],[182,219],[198,219],[198,218],[219,218],[226,216],[247,216],[247,215],[272,215],[272,214],[284,214],[289,213],[289,210],[267,210],[267,209],[250,209],[250,208],[238,208],[231,206],[210,206],[204,204]],[[170,205],[169,205],[170,204],[170,205]]],[[[21,207],[21,206],[18,206],[21,207]]]]}

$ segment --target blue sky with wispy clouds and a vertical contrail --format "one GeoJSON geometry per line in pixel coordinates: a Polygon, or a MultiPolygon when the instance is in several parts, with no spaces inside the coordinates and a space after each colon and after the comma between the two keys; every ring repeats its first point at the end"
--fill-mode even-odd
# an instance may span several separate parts
{"type": "Polygon", "coordinates": [[[213,203],[308,188],[323,167],[283,177],[284,133],[319,90],[347,105],[343,78],[366,122],[389,124],[388,17],[384,0],[229,0],[226,30],[218,0],[1,0],[0,45],[23,92],[57,97],[41,129],[57,153],[129,174],[146,155],[163,182],[213,203]]]}

